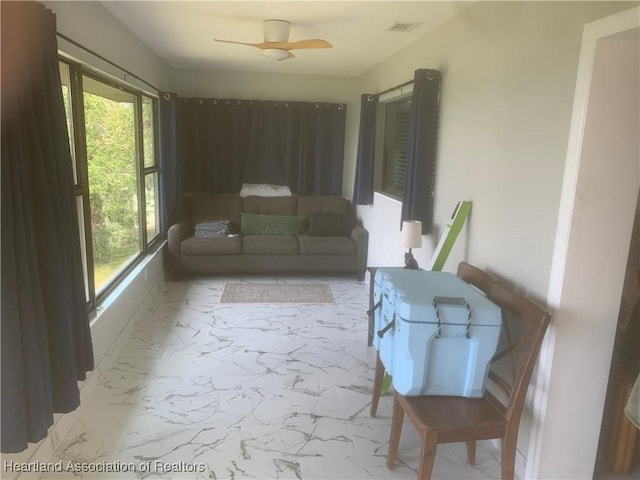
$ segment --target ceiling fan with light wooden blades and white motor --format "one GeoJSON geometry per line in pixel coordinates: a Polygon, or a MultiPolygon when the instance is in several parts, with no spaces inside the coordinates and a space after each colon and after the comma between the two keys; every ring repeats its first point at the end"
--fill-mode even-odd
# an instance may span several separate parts
{"type": "Polygon", "coordinates": [[[295,57],[295,55],[291,53],[291,50],[333,47],[333,45],[321,38],[310,38],[290,42],[290,23],[286,20],[265,20],[262,23],[264,26],[264,42],[262,43],[237,42],[235,40],[221,40],[219,38],[215,38],[214,40],[216,42],[236,43],[259,48],[265,56],[274,60],[286,60],[287,58],[295,57]]]}

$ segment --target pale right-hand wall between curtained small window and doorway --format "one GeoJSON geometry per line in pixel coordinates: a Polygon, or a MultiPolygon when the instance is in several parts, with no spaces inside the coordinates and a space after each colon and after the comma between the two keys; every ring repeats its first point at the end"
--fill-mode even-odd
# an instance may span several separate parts
{"type": "MultiPolygon", "coordinates": [[[[417,68],[442,73],[435,229],[414,250],[419,264],[428,263],[457,201],[470,200],[445,269],[465,259],[544,302],[583,25],[631,6],[480,2],[362,77],[362,91],[376,93],[410,80],[417,68]]],[[[357,122],[350,128],[357,135],[357,122]]],[[[402,265],[400,203],[376,195],[358,211],[370,232],[369,264],[402,265]]],[[[523,456],[532,417],[529,405],[518,441],[523,456]]]]}

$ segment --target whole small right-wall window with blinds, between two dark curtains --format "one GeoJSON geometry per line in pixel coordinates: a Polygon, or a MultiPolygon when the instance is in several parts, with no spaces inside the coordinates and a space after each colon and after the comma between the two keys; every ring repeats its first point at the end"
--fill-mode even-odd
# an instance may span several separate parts
{"type": "Polygon", "coordinates": [[[402,199],[407,171],[411,97],[381,102],[378,106],[375,188],[402,199]]]}

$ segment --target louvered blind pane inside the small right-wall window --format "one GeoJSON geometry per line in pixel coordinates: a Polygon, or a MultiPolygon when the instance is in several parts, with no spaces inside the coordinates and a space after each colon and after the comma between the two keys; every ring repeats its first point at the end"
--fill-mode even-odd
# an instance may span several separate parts
{"type": "Polygon", "coordinates": [[[410,98],[396,100],[386,105],[381,187],[382,192],[397,198],[402,198],[404,191],[410,118],[410,98]]]}

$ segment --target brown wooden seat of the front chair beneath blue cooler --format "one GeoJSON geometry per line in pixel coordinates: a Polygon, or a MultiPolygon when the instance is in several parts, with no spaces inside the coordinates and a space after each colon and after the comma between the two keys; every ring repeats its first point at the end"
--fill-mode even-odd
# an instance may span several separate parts
{"type": "Polygon", "coordinates": [[[500,438],[507,421],[486,397],[404,397],[396,400],[418,430],[437,430],[442,443],[460,442],[469,438],[473,425],[476,440],[500,438]]]}

